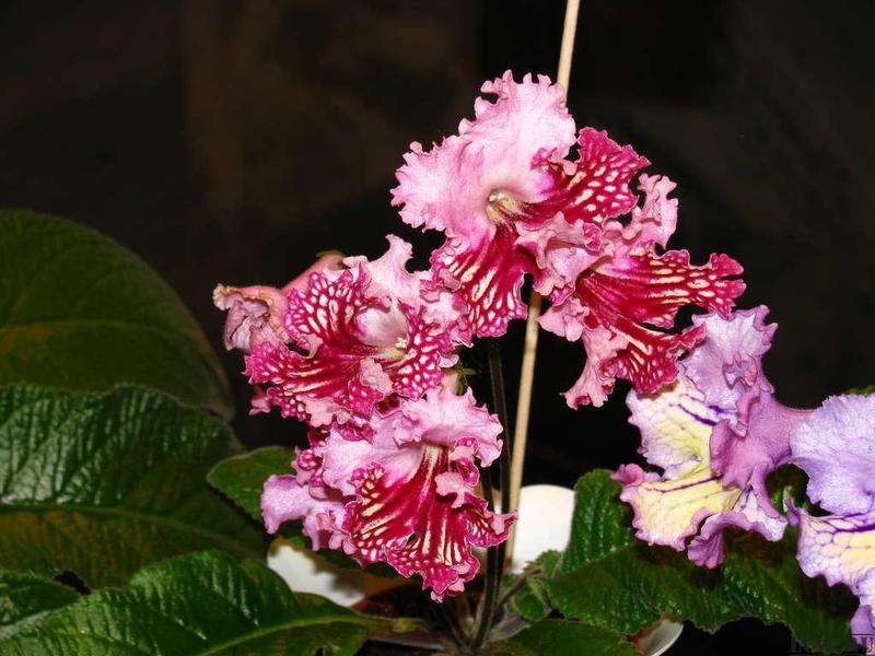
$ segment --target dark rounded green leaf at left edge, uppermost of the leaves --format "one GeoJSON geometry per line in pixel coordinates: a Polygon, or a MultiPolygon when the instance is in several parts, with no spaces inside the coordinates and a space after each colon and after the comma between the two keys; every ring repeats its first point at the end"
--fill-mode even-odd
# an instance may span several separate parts
{"type": "Polygon", "coordinates": [[[0,211],[0,385],[153,387],[229,418],[222,367],[170,286],[72,222],[0,211]]]}

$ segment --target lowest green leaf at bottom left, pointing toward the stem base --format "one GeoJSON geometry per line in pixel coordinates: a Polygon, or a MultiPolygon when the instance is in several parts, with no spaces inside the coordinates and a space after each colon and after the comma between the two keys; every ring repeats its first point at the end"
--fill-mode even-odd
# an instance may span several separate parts
{"type": "Polygon", "coordinates": [[[0,644],[0,655],[354,654],[384,622],[294,594],[266,566],[201,552],[155,563],[0,644]]]}

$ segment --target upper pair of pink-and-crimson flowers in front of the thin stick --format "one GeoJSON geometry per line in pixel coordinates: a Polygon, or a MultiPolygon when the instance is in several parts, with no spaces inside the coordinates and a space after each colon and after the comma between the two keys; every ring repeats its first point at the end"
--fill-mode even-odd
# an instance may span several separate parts
{"type": "Polygon", "coordinates": [[[495,337],[525,316],[520,291],[532,273],[552,303],[541,326],[586,351],[565,393],[572,408],[600,406],[617,377],[656,391],[704,337],[701,327],[669,332],[678,309],[725,316],[744,291],[727,277],[742,267],[725,255],[693,266],[686,250],[657,253],[677,223],[675,184],[642,175],[637,206],[629,183],[650,162],[592,128],[575,139],[560,86],[508,72],[481,91],[497,99],[478,98],[475,119],[432,150],[411,144],[393,190],[404,221],[446,236],[431,257],[435,278],[464,300],[475,336],[495,337]]]}

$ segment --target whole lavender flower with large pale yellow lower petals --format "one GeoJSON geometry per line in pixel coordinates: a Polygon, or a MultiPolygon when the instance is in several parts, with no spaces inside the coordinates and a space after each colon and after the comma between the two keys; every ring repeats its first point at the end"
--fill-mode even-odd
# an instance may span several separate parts
{"type": "Polygon", "coordinates": [[[766,477],[790,458],[790,434],[809,412],[778,403],[762,373],[774,325],[768,308],[724,319],[695,317],[704,340],[679,361],[674,385],[629,394],[641,449],[662,475],[621,467],[620,499],[634,509],[639,538],[682,551],[700,565],[723,561],[727,526],[779,540],[786,520],[772,507],[766,477]],[[692,540],[687,544],[687,538],[692,540]]]}

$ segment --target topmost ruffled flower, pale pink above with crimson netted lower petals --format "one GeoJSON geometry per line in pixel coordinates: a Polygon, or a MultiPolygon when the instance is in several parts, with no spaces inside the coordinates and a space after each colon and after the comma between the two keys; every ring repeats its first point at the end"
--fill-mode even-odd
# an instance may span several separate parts
{"type": "Polygon", "coordinates": [[[597,248],[598,226],[632,208],[628,183],[649,162],[590,128],[578,138],[578,160],[564,159],[574,120],[564,90],[544,75],[516,83],[508,71],[481,92],[495,102],[477,98],[458,134],[428,152],[411,144],[393,204],[410,225],[446,235],[431,258],[435,278],[466,301],[475,335],[497,337],[526,315],[524,274],[553,277],[526,246],[532,232],[550,232],[562,248],[597,248]]]}

